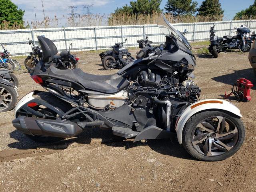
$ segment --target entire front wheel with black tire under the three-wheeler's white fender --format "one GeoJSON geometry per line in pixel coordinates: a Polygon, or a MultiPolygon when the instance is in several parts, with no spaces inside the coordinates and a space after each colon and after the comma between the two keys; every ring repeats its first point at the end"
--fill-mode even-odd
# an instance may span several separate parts
{"type": "Polygon", "coordinates": [[[242,120],[223,111],[193,115],[182,133],[182,144],[194,158],[220,161],[234,155],[245,137],[242,120]]]}

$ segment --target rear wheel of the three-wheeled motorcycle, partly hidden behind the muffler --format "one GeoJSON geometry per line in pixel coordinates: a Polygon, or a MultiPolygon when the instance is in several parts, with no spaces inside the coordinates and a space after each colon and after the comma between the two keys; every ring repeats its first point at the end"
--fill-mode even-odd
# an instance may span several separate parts
{"type": "MultiPolygon", "coordinates": [[[[39,92],[39,93],[35,94],[34,97],[39,100],[43,100],[43,101],[59,108],[63,112],[67,112],[68,110],[70,110],[72,108],[71,104],[64,102],[63,100],[57,98],[56,96],[52,95],[49,92],[39,92]]],[[[33,109],[40,112],[41,114],[45,114],[48,116],[54,116],[54,117],[58,118],[58,114],[56,114],[56,112],[54,112],[50,108],[36,106],[33,109]]],[[[20,114],[20,115],[24,115],[24,114],[20,114]]],[[[43,118],[41,116],[35,116],[35,115],[33,115],[32,117],[43,118]]],[[[52,118],[52,119],[56,119],[56,118],[52,118]]],[[[30,138],[31,140],[34,140],[36,142],[43,142],[43,143],[44,142],[56,142],[56,141],[60,141],[60,140],[64,139],[64,138],[59,138],[59,137],[47,137],[47,136],[31,136],[31,135],[26,135],[26,136],[28,138],[30,138]]]]}

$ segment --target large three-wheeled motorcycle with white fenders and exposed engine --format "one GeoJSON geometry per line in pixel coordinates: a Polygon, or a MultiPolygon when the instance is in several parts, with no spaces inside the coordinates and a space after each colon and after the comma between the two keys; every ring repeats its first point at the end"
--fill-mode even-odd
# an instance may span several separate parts
{"type": "Polygon", "coordinates": [[[240,110],[225,100],[198,101],[200,88],[188,79],[196,66],[191,46],[167,21],[166,29],[162,50],[156,47],[147,58],[103,76],[49,66],[58,50],[38,36],[43,54],[31,77],[47,92],[24,96],[12,124],[36,141],[71,138],[95,126],[134,142],[174,132],[194,158],[232,156],[244,142],[240,110]]]}

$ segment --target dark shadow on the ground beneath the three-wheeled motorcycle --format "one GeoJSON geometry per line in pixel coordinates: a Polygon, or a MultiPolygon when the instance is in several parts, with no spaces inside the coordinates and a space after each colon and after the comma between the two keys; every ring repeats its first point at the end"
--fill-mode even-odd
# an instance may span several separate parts
{"type": "Polygon", "coordinates": [[[172,136],[171,139],[163,140],[146,140],[144,142],[133,142],[133,139],[125,139],[118,136],[114,136],[110,130],[102,130],[100,128],[89,129],[84,131],[82,134],[78,135],[77,138],[71,138],[62,140],[54,143],[38,143],[30,140],[24,134],[15,130],[10,133],[10,138],[17,140],[16,142],[8,144],[10,148],[16,148],[20,150],[24,149],[35,149],[38,147],[62,150],[67,148],[70,144],[76,142],[78,144],[91,144],[93,139],[102,139],[101,144],[113,147],[125,147],[126,150],[138,146],[149,146],[152,150],[164,154],[170,155],[177,158],[193,159],[183,148],[182,145],[178,143],[176,134],[172,136]]]}

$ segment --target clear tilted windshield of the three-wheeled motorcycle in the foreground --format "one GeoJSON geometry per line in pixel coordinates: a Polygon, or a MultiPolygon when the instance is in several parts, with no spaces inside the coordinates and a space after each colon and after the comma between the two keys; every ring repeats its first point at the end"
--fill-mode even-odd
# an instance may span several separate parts
{"type": "Polygon", "coordinates": [[[186,37],[179,31],[177,30],[167,19],[165,16],[162,17],[163,21],[159,22],[158,26],[160,30],[165,34],[165,35],[174,35],[178,40],[182,42],[188,49],[192,50],[192,47],[186,37]]]}

